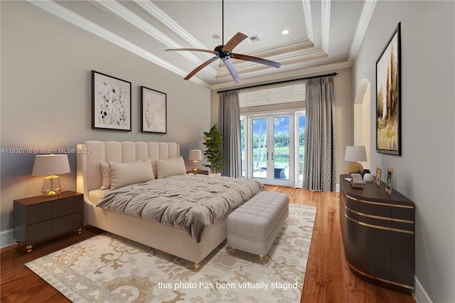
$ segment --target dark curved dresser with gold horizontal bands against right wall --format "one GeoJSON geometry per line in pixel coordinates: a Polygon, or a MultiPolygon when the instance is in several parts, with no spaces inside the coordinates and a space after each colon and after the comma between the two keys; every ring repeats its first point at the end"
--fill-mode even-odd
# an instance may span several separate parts
{"type": "Polygon", "coordinates": [[[385,184],[352,188],[340,176],[340,224],[346,260],[361,279],[399,292],[414,290],[414,203],[385,184]]]}

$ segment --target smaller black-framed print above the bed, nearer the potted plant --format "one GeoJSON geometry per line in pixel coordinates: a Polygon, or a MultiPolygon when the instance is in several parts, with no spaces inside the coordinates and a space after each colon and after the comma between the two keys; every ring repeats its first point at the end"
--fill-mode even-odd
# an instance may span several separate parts
{"type": "Polygon", "coordinates": [[[166,98],[164,92],[141,86],[141,132],[166,134],[166,98]]]}

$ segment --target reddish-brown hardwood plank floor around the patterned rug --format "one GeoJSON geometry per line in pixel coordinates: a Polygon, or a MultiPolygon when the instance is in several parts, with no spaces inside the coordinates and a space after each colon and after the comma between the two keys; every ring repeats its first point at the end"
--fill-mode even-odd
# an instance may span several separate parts
{"type": "MultiPolygon", "coordinates": [[[[267,188],[269,191],[287,193],[291,203],[318,208],[301,302],[416,302],[410,295],[370,285],[350,272],[341,241],[338,193],[304,191],[282,186],[267,188]]],[[[68,233],[38,243],[33,246],[30,254],[26,253],[22,245],[2,248],[0,302],[69,302],[24,264],[100,233],[102,230],[86,226],[82,235],[68,233]]]]}

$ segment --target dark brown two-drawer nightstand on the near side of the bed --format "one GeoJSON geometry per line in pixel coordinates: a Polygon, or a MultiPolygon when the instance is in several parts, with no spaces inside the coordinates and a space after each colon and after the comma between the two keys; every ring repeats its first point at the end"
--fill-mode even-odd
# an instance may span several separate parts
{"type": "Polygon", "coordinates": [[[77,230],[84,225],[82,193],[63,191],[59,195],[14,200],[14,238],[31,252],[34,243],[77,230]]]}

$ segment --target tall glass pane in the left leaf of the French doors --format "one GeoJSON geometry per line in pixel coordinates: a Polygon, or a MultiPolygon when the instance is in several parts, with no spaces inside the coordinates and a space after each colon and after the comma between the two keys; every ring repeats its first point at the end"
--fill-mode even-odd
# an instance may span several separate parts
{"type": "Polygon", "coordinates": [[[267,118],[252,119],[252,176],[267,178],[267,118]]]}

